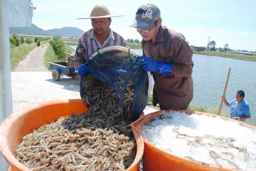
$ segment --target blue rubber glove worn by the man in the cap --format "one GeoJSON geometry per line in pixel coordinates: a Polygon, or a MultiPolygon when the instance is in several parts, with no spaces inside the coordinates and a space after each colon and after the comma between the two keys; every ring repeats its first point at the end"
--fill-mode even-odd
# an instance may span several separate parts
{"type": "Polygon", "coordinates": [[[169,75],[173,70],[171,63],[156,62],[151,58],[145,56],[138,56],[136,58],[139,62],[135,63],[138,66],[142,66],[144,71],[157,71],[161,74],[169,75]]]}

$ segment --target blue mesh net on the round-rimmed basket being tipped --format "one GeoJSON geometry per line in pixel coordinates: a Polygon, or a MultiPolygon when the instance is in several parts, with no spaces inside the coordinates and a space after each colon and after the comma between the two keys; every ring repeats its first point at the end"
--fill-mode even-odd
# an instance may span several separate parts
{"type": "Polygon", "coordinates": [[[88,67],[91,74],[83,83],[85,91],[98,81],[109,85],[116,93],[119,105],[126,100],[124,93],[127,87],[132,87],[131,120],[139,117],[148,99],[148,76],[140,66],[135,65],[137,55],[127,47],[102,48],[89,58],[88,67]]]}

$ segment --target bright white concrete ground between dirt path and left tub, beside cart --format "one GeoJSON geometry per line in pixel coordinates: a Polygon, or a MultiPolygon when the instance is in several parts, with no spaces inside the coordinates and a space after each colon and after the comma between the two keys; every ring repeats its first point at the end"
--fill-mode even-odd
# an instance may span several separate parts
{"type": "Polygon", "coordinates": [[[52,72],[12,72],[13,111],[51,100],[80,99],[79,83],[61,77],[52,79],[52,72]]]}

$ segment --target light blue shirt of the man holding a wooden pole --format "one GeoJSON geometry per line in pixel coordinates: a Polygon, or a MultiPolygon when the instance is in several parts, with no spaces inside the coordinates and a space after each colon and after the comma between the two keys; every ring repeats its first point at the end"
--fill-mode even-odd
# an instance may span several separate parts
{"type": "MultiPolygon", "coordinates": [[[[232,100],[229,106],[231,117],[251,116],[249,105],[244,100],[240,104],[238,104],[236,99],[232,100]]],[[[241,119],[241,121],[245,121],[245,119],[241,119]]]]}

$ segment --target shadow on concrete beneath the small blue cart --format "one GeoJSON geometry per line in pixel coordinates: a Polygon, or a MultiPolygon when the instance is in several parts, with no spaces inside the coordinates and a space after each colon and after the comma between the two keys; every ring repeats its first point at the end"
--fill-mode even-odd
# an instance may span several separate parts
{"type": "Polygon", "coordinates": [[[72,78],[61,77],[59,81],[54,81],[53,79],[47,79],[46,81],[61,85],[63,89],[79,92],[79,82],[74,81],[72,78]]]}

